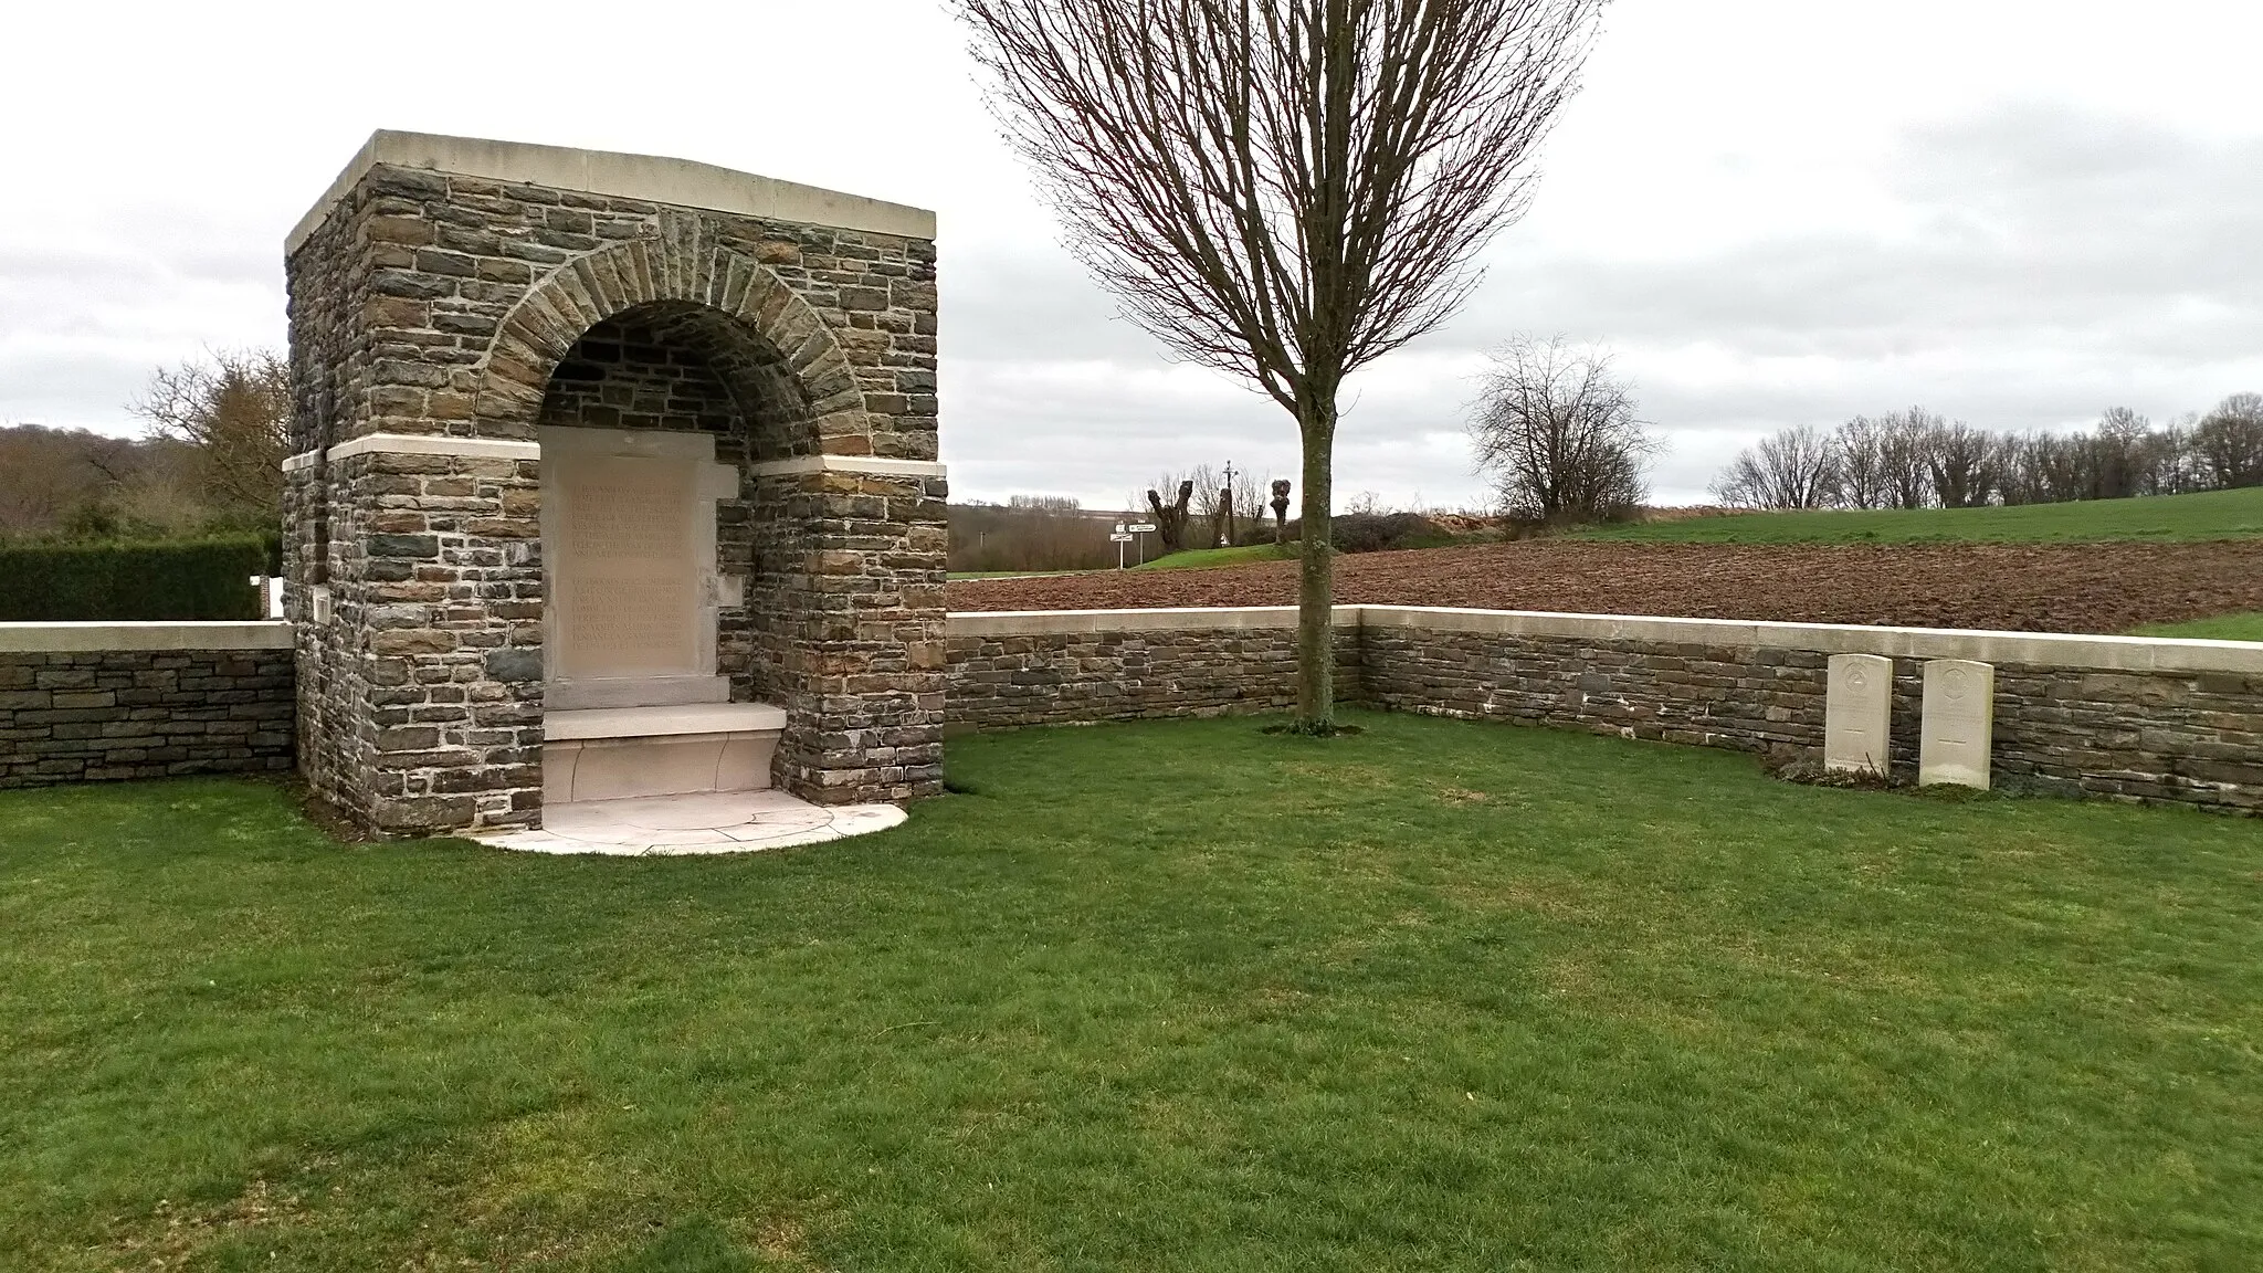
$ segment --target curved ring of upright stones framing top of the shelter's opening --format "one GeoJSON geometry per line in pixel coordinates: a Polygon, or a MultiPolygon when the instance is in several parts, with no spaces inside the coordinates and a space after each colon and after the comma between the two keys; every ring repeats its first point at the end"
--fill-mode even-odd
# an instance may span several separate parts
{"type": "Polygon", "coordinates": [[[532,439],[550,374],[575,342],[600,322],[665,304],[733,324],[799,383],[808,417],[763,460],[817,455],[826,437],[869,435],[864,392],[817,308],[754,256],[702,242],[695,217],[665,215],[659,238],[568,260],[511,306],[480,365],[473,399],[480,435],[532,439]]]}

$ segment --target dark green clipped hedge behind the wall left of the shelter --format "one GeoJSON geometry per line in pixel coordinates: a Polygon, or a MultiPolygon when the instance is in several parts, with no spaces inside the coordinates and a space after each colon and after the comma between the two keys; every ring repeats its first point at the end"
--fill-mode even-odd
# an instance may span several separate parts
{"type": "Polygon", "coordinates": [[[0,621],[263,618],[251,575],[274,535],[158,544],[0,544],[0,621]]]}

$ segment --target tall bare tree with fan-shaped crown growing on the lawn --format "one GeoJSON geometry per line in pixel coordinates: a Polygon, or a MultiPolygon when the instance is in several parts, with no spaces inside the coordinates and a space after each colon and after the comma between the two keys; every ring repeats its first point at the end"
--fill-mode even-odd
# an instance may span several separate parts
{"type": "Polygon", "coordinates": [[[1602,0],[955,0],[1068,247],[1172,353],[1297,417],[1297,725],[1333,732],[1344,378],[1514,222],[1602,0]]]}

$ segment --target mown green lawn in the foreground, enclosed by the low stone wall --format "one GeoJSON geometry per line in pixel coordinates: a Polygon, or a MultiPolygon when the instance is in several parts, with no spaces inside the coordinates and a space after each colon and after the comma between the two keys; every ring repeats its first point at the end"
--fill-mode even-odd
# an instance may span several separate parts
{"type": "Polygon", "coordinates": [[[735,858],[0,793],[0,1268],[2256,1268],[2254,820],[1412,716],[735,858]]]}

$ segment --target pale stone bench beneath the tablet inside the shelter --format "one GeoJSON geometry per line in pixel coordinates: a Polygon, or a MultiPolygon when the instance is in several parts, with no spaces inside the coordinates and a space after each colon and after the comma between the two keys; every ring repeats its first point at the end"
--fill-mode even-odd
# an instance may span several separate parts
{"type": "Polygon", "coordinates": [[[785,729],[767,702],[600,707],[543,716],[543,802],[763,791],[785,729]]]}

